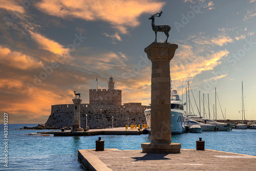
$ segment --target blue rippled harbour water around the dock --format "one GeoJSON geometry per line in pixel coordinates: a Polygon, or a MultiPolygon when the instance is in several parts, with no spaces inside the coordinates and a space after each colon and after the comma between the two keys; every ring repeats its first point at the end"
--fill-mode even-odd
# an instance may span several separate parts
{"type": "MultiPolygon", "coordinates": [[[[95,149],[99,136],[89,137],[40,137],[25,134],[46,130],[15,130],[37,124],[9,124],[8,168],[4,166],[4,125],[1,124],[0,170],[83,170],[77,160],[77,149],[95,149]]],[[[150,135],[111,136],[102,135],[105,148],[141,149],[142,142],[150,142],[150,135]]],[[[185,133],[173,135],[172,142],[181,143],[182,148],[196,148],[199,137],[205,148],[256,156],[256,130],[230,132],[185,133]]]]}

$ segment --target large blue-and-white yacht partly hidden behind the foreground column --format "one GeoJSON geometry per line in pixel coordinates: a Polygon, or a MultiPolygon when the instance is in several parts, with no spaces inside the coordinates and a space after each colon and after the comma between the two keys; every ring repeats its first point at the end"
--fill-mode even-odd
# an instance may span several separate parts
{"type": "MultiPolygon", "coordinates": [[[[185,111],[183,109],[183,105],[186,103],[182,103],[176,90],[172,90],[171,98],[170,115],[172,134],[185,133],[185,111]]],[[[146,109],[144,114],[147,126],[151,129],[151,109],[146,109]]]]}

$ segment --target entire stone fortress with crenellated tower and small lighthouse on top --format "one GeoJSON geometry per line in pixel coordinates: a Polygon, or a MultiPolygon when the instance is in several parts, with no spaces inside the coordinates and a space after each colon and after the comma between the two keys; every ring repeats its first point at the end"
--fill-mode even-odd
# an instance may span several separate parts
{"type": "MultiPolygon", "coordinates": [[[[87,125],[90,129],[112,127],[112,116],[114,127],[129,124],[146,123],[144,110],[150,108],[149,105],[141,103],[122,103],[122,91],[114,88],[115,81],[109,78],[109,88],[89,90],[89,103],[81,103],[81,127],[87,125]]],[[[52,105],[51,115],[46,126],[55,126],[58,129],[62,127],[72,127],[74,124],[74,104],[52,105]]]]}

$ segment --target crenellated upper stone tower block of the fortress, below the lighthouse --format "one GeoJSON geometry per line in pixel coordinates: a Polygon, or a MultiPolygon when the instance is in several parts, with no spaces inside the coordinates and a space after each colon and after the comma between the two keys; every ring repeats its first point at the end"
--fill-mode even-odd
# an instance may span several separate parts
{"type": "Polygon", "coordinates": [[[90,104],[99,105],[121,105],[121,90],[91,89],[89,90],[90,104]]]}

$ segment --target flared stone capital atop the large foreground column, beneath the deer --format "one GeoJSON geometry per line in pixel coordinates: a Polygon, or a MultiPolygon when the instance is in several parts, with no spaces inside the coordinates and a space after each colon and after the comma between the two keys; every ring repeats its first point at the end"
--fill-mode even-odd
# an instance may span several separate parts
{"type": "Polygon", "coordinates": [[[171,60],[174,57],[175,50],[178,48],[177,44],[165,44],[153,42],[144,49],[148,59],[150,60],[171,60]]]}

